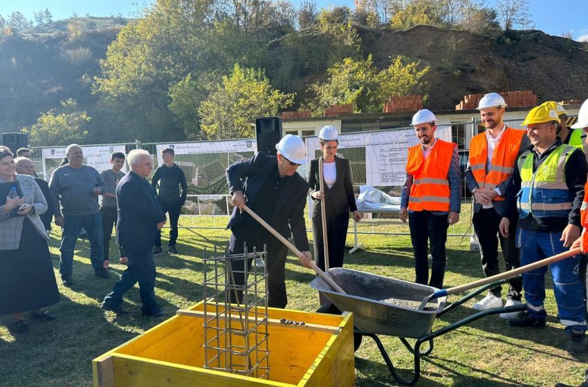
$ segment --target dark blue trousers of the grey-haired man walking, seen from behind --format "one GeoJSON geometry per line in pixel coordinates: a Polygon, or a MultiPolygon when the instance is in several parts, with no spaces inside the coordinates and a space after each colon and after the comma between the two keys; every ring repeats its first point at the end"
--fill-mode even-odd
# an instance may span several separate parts
{"type": "Polygon", "coordinates": [[[150,312],[157,308],[155,300],[155,260],[151,249],[145,251],[125,249],[129,266],[122,272],[122,276],[114,285],[112,292],[104,298],[104,304],[111,307],[120,306],[122,296],[139,283],[139,293],[143,306],[141,310],[150,312]]]}

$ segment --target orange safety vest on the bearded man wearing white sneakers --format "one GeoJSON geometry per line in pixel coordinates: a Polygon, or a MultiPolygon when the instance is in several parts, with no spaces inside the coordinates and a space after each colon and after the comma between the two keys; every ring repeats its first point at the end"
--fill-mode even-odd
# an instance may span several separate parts
{"type": "MultiPolygon", "coordinates": [[[[506,128],[498,142],[490,167],[486,173],[488,160],[488,141],[486,132],[475,135],[470,141],[470,170],[481,188],[495,189],[512,174],[517,161],[517,154],[525,131],[506,128]]],[[[493,200],[504,200],[504,196],[496,196],[493,200]]]]}

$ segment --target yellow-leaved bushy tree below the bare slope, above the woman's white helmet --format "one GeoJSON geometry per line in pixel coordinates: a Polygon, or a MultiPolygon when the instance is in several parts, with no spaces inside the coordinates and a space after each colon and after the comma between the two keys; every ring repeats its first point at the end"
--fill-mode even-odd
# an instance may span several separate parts
{"type": "Polygon", "coordinates": [[[401,56],[390,59],[390,66],[379,72],[371,55],[343,59],[327,70],[326,82],[311,84],[308,91],[315,97],[306,101],[306,107],[319,113],[332,104],[353,104],[358,113],[376,113],[391,95],[422,94],[426,86],[422,77],[430,68],[401,56]]]}

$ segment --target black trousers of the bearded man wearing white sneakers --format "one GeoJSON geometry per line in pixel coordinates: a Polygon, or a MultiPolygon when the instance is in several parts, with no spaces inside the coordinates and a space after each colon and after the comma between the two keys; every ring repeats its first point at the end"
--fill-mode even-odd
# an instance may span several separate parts
{"type": "MultiPolygon", "coordinates": [[[[494,208],[482,208],[474,214],[472,219],[479,240],[482,269],[486,277],[500,273],[498,240],[500,241],[500,247],[502,247],[506,271],[516,269],[521,265],[520,252],[515,245],[517,223],[511,222],[510,227],[508,227],[508,238],[504,238],[498,231],[500,220],[502,220],[502,215],[498,214],[494,208]],[[497,235],[498,239],[496,238],[497,235]]],[[[522,279],[511,281],[511,285],[508,287],[508,298],[520,301],[522,289],[522,279]]],[[[490,293],[497,297],[501,296],[501,291],[502,286],[490,289],[490,293]]]]}

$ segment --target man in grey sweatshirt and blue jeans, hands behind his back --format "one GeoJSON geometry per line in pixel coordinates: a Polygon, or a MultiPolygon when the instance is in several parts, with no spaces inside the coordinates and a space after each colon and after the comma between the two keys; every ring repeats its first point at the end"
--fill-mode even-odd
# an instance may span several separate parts
{"type": "Polygon", "coordinates": [[[102,218],[98,196],[104,193],[106,182],[100,173],[84,165],[84,153],[78,144],[66,149],[68,163],[55,169],[49,182],[54,205],[55,225],[62,227],[61,260],[59,274],[65,286],[73,285],[73,249],[82,227],[90,243],[90,261],[94,274],[109,279],[102,259],[102,218]]]}

